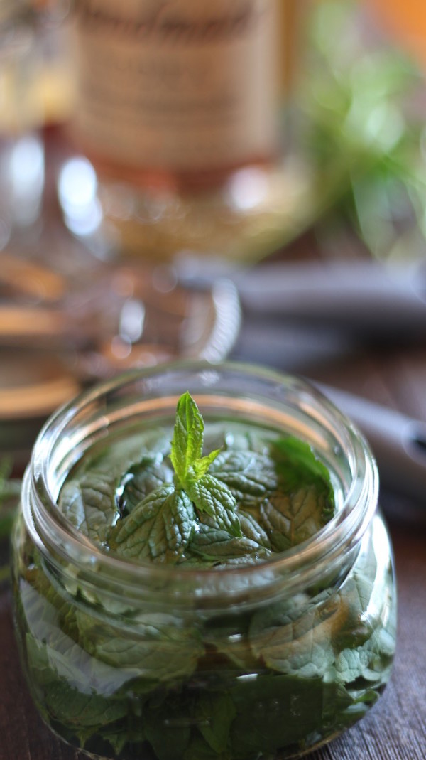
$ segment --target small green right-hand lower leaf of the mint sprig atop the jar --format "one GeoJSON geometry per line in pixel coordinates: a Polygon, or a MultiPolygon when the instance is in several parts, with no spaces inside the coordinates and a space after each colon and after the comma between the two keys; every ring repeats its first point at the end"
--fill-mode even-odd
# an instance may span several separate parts
{"type": "Polygon", "coordinates": [[[197,510],[210,515],[219,530],[226,530],[232,536],[242,535],[235,513],[237,504],[225,483],[207,474],[187,486],[187,490],[197,510]]]}

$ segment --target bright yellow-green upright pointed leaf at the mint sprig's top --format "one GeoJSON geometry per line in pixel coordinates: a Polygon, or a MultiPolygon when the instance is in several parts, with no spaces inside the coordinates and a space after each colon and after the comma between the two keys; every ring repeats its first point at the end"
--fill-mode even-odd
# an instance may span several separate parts
{"type": "Polygon", "coordinates": [[[170,459],[181,485],[185,485],[188,470],[203,452],[204,420],[188,391],[181,395],[176,407],[170,459]]]}

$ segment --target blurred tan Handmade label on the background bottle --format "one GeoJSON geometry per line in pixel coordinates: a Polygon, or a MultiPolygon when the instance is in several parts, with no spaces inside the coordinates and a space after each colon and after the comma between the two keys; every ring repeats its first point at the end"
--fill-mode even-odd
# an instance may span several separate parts
{"type": "Polygon", "coordinates": [[[192,172],[276,147],[279,0],[76,0],[74,128],[94,154],[192,172]]]}

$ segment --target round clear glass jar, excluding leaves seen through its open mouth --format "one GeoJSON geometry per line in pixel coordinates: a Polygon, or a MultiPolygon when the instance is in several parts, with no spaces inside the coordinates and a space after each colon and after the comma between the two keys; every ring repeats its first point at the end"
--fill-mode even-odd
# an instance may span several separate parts
{"type": "Polygon", "coordinates": [[[272,760],[361,718],[390,675],[396,590],[368,445],[305,382],[238,364],[133,371],[58,410],[33,449],[14,531],[17,638],[47,724],[102,758],[272,760]],[[58,510],[93,445],[172,426],[189,390],[217,420],[297,435],[338,509],[305,543],[220,570],[129,562],[58,510]]]}

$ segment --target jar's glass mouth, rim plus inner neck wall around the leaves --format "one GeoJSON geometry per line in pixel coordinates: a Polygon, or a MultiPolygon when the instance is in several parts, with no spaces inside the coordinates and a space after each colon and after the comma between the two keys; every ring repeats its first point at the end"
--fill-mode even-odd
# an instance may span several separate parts
{"type": "Polygon", "coordinates": [[[54,557],[62,567],[72,565],[87,584],[96,586],[102,577],[111,593],[121,597],[124,592],[128,597],[144,596],[150,588],[184,604],[193,603],[194,598],[208,604],[218,596],[244,600],[254,590],[269,599],[274,589],[277,594],[291,595],[306,587],[310,579],[317,581],[321,573],[328,575],[359,545],[377,507],[377,494],[377,467],[363,436],[304,379],[249,364],[185,361],[125,372],[60,407],[36,440],[24,477],[22,502],[27,528],[42,554],[50,560],[54,557]],[[140,401],[129,395],[135,390],[140,401]],[[343,498],[336,515],[304,543],[253,565],[194,569],[130,562],[92,543],[56,503],[65,474],[79,458],[73,454],[78,442],[84,441],[90,448],[94,437],[106,435],[128,410],[154,414],[175,403],[185,390],[194,392],[197,403],[201,399],[200,408],[210,404],[213,409],[235,411],[239,406],[241,419],[249,410],[264,421],[269,410],[278,429],[288,430],[297,411],[296,422],[305,432],[311,431],[317,453],[329,460],[339,457],[340,468],[345,470],[340,472],[343,498]],[[79,437],[83,429],[84,435],[79,437]]]}

